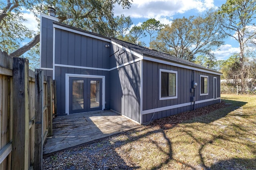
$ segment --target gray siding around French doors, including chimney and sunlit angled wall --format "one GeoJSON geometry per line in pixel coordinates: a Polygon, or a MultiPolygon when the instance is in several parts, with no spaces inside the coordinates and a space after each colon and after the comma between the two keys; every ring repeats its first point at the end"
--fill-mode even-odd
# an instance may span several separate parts
{"type": "Polygon", "coordinates": [[[56,80],[57,113],[59,115],[67,113],[67,74],[100,75],[105,77],[104,109],[112,109],[140,122],[140,60],[138,57],[110,43],[110,38],[93,33],[90,34],[99,36],[100,39],[79,34],[79,32],[85,34],[89,32],[53,22],[50,19],[42,17],[44,23],[52,23],[53,29],[44,28],[41,51],[47,49],[54,55],[41,53],[41,67],[54,74],[51,76],[56,80]],[[76,32],[70,32],[68,30],[70,28],[76,32]],[[54,35],[54,43],[47,41],[45,35],[48,34],[54,35]],[[105,39],[107,41],[104,41],[105,39]],[[106,47],[106,44],[110,47],[106,47]],[[53,45],[53,48],[48,45],[53,45]],[[54,62],[47,65],[46,63],[52,62],[53,58],[54,62]],[[126,64],[129,62],[131,63],[126,64]]]}

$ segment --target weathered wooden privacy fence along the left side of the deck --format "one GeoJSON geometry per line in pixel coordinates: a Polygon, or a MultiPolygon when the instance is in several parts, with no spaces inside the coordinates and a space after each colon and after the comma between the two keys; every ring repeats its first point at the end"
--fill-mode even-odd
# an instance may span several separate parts
{"type": "Polygon", "coordinates": [[[52,136],[55,86],[28,59],[0,51],[0,170],[42,169],[42,149],[52,136]]]}

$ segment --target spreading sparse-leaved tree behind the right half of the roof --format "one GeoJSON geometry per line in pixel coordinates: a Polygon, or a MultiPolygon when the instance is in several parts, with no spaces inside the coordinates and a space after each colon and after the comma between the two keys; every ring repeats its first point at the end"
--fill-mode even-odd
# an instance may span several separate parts
{"type": "Polygon", "coordinates": [[[212,51],[222,45],[225,34],[214,10],[204,15],[178,18],[160,30],[152,47],[193,61],[196,55],[214,58],[212,51]]]}

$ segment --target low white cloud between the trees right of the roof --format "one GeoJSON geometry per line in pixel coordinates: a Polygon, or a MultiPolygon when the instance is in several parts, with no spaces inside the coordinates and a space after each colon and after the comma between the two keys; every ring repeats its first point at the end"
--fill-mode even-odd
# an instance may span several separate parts
{"type": "Polygon", "coordinates": [[[226,60],[234,53],[239,53],[239,47],[232,47],[230,44],[221,45],[216,51],[213,51],[217,60],[226,60]]]}

